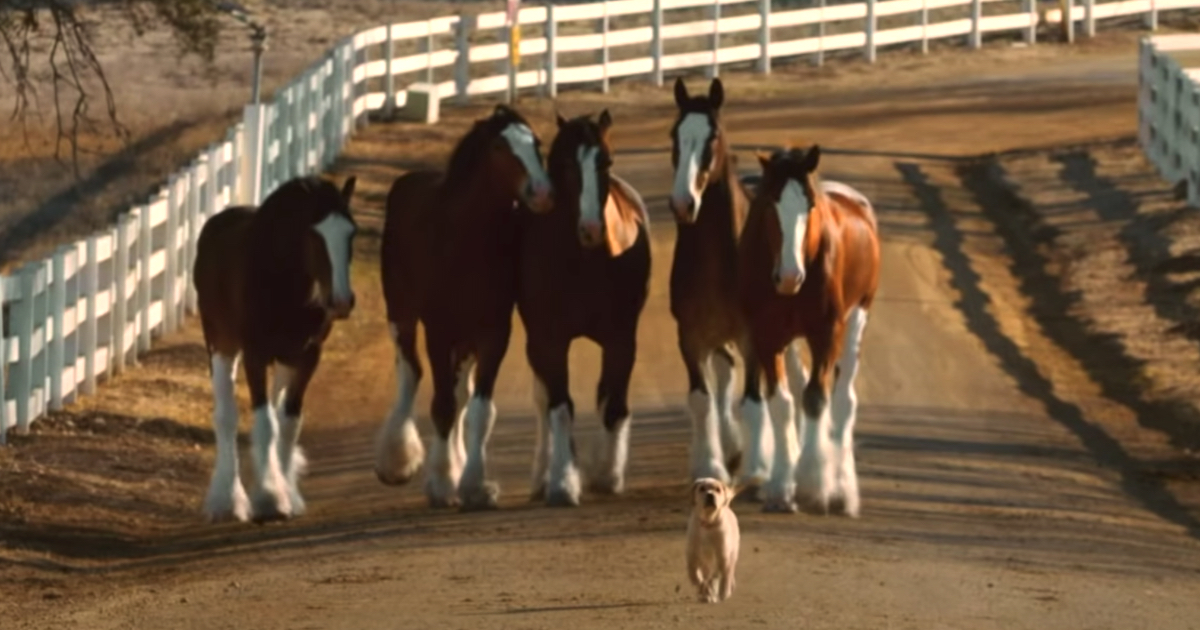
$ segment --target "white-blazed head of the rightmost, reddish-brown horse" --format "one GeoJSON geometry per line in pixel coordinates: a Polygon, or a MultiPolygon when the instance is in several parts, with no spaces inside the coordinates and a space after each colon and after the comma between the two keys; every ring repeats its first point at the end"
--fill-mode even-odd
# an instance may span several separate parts
{"type": "Polygon", "coordinates": [[[764,234],[775,260],[772,282],[780,295],[796,295],[804,284],[809,263],[821,248],[821,224],[815,211],[820,198],[816,169],[821,148],[815,144],[808,151],[787,148],[772,154],[758,152],[757,157],[762,181],[754,203],[764,211],[766,223],[774,223],[774,229],[764,234]],[[763,208],[766,205],[774,212],[763,208]]]}

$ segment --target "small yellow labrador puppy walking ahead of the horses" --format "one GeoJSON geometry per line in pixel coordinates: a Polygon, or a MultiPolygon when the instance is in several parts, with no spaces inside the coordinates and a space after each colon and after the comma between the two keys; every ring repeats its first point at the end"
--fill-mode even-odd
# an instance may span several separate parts
{"type": "Polygon", "coordinates": [[[715,604],[733,594],[742,532],[730,509],[734,488],[719,479],[697,479],[691,485],[688,521],[688,578],[700,590],[700,601],[715,604]]]}

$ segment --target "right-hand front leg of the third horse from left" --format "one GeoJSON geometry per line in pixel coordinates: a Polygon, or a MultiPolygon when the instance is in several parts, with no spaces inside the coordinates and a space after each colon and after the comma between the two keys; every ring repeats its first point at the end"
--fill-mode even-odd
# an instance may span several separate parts
{"type": "Polygon", "coordinates": [[[632,422],[629,413],[629,379],[637,360],[637,331],[630,330],[604,346],[601,377],[606,444],[592,476],[592,490],[605,494],[625,491],[625,467],[629,464],[629,431],[632,422]]]}

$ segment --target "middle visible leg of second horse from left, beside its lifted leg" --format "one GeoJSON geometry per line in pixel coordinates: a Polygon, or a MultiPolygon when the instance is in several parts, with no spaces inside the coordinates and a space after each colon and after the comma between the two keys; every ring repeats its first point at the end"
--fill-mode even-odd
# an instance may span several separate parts
{"type": "Polygon", "coordinates": [[[430,334],[426,326],[426,354],[430,371],[433,373],[433,401],[430,403],[430,415],[433,419],[436,434],[430,445],[428,466],[425,474],[425,497],[430,508],[450,508],[458,504],[458,480],[462,476],[462,462],[457,460],[451,448],[451,438],[457,422],[455,404],[455,365],[451,348],[443,341],[440,331],[430,334]],[[457,460],[457,461],[456,461],[457,460]]]}

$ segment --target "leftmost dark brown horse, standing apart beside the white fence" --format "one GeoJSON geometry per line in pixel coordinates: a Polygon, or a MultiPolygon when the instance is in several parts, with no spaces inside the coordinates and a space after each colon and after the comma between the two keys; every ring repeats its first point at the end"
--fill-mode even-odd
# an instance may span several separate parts
{"type": "Polygon", "coordinates": [[[335,319],[354,308],[350,258],[358,228],[341,192],[316,176],[286,181],[257,209],[209,218],[193,278],[212,377],[217,457],[204,511],[210,521],[264,522],[304,512],[301,404],[335,319]],[[256,467],[253,500],[238,476],[238,362],[245,361],[256,467]],[[274,365],[270,397],[266,370],[274,365]]]}

